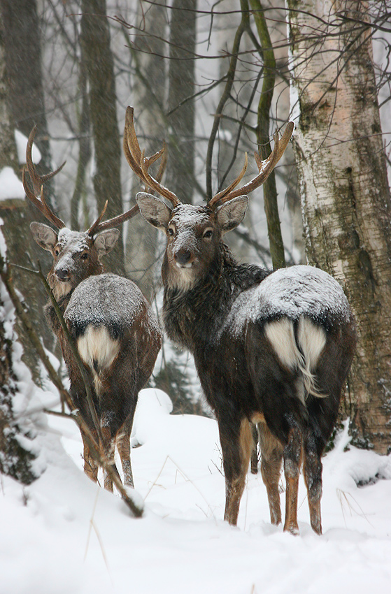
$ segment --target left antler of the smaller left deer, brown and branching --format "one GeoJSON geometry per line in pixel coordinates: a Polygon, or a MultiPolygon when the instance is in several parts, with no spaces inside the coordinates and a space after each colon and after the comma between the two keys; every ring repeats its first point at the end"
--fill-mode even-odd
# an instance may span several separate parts
{"type": "Polygon", "coordinates": [[[56,173],[58,173],[64,167],[65,162],[62,164],[61,167],[56,169],[56,171],[52,171],[50,173],[47,173],[46,175],[38,175],[38,173],[36,173],[35,166],[34,166],[34,163],[33,163],[32,157],[31,157],[31,150],[32,150],[34,138],[36,135],[36,129],[37,129],[37,126],[34,126],[34,128],[31,130],[30,135],[29,135],[29,140],[27,140],[27,147],[26,147],[27,171],[29,172],[29,176],[30,176],[31,184],[33,186],[34,193],[31,191],[31,189],[29,189],[29,186],[27,184],[26,168],[23,169],[23,173],[22,173],[22,182],[23,182],[24,191],[26,192],[26,196],[27,196],[27,198],[29,198],[29,201],[32,204],[34,204],[34,206],[36,206],[36,208],[38,208],[38,210],[40,210],[42,212],[43,216],[46,219],[48,219],[48,221],[50,221],[53,225],[55,225],[55,227],[57,227],[57,229],[63,229],[66,226],[65,223],[55,215],[55,213],[49,208],[48,204],[45,201],[45,198],[43,196],[43,184],[45,182],[47,182],[48,180],[50,180],[50,178],[52,178],[54,175],[56,175],[56,173]],[[37,195],[41,196],[41,200],[38,198],[37,195]]]}

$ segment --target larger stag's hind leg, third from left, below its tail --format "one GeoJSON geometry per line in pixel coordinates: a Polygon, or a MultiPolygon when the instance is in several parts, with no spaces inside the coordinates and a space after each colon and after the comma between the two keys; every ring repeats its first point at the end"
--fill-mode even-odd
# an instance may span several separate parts
{"type": "Polygon", "coordinates": [[[297,426],[290,429],[287,445],[283,451],[286,481],[285,532],[299,534],[297,523],[297,494],[301,466],[301,433],[297,426]]]}

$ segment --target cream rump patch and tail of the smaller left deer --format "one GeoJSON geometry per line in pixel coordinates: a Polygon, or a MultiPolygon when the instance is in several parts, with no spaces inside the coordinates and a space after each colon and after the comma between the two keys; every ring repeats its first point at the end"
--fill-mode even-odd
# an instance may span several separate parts
{"type": "Polygon", "coordinates": [[[113,340],[106,326],[87,326],[83,336],[78,338],[78,352],[83,363],[94,374],[94,385],[97,394],[101,391],[102,372],[110,368],[120,352],[119,340],[113,340]]]}

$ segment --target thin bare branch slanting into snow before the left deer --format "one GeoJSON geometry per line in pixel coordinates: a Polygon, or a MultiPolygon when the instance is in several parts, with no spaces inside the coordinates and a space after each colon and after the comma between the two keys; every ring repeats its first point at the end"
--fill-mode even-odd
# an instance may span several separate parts
{"type": "MultiPolygon", "coordinates": [[[[36,275],[41,275],[41,277],[43,277],[43,279],[45,280],[45,277],[43,276],[43,274],[41,272],[38,272],[36,270],[28,270],[28,269],[24,269],[24,270],[27,270],[29,273],[35,273],[36,275]]],[[[131,514],[133,514],[136,518],[140,518],[143,515],[142,505],[139,505],[138,503],[136,504],[136,502],[134,502],[134,500],[131,498],[131,495],[129,495],[129,490],[122,485],[120,477],[115,473],[113,468],[111,468],[111,465],[106,460],[106,456],[104,456],[104,453],[101,451],[99,444],[97,444],[97,441],[94,439],[94,436],[92,435],[92,433],[90,431],[90,428],[88,428],[85,421],[83,421],[83,419],[81,418],[80,413],[78,412],[76,407],[73,405],[71,395],[64,388],[64,385],[62,384],[62,380],[60,379],[59,375],[57,374],[57,371],[55,370],[55,368],[53,368],[52,364],[50,363],[48,355],[45,353],[45,350],[43,349],[43,346],[41,345],[41,340],[39,340],[39,337],[36,334],[36,331],[34,330],[32,324],[31,324],[31,321],[29,320],[29,314],[27,312],[27,308],[24,305],[22,305],[20,298],[17,296],[15,288],[13,287],[13,282],[12,282],[12,278],[10,275],[10,268],[9,268],[9,266],[7,266],[6,262],[1,257],[1,254],[0,254],[0,277],[1,277],[1,280],[3,281],[4,286],[6,287],[6,290],[8,291],[10,300],[12,301],[13,306],[15,307],[15,313],[16,313],[17,317],[19,317],[20,320],[22,321],[22,324],[23,324],[24,328],[26,329],[29,339],[31,340],[32,344],[34,345],[39,358],[41,358],[41,361],[42,361],[43,365],[45,366],[46,371],[48,372],[50,381],[55,385],[55,387],[59,391],[60,395],[62,396],[62,398],[64,398],[66,404],[68,405],[69,410],[71,411],[71,415],[69,415],[69,416],[71,416],[73,421],[75,421],[77,423],[77,425],[80,429],[80,432],[83,433],[85,440],[87,442],[87,445],[90,448],[90,452],[91,452],[92,456],[99,463],[99,465],[101,465],[101,467],[105,470],[105,472],[107,472],[108,475],[111,477],[113,484],[115,484],[115,487],[118,489],[122,499],[127,504],[127,507],[129,507],[131,514]]],[[[51,293],[51,291],[50,291],[50,293],[51,293]]],[[[61,312],[60,312],[60,315],[61,315],[61,312]]]]}

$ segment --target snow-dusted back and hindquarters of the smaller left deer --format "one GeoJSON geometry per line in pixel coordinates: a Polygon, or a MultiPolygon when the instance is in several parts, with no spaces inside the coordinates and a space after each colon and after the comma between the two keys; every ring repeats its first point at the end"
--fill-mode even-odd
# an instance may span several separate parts
{"type": "MultiPolygon", "coordinates": [[[[83,363],[92,372],[98,396],[105,377],[115,377],[115,384],[128,382],[129,391],[144,386],[155,365],[161,332],[134,282],[111,273],[87,278],[73,291],[64,319],[83,363]]],[[[60,342],[74,377],[78,372],[62,332],[60,342]]]]}

